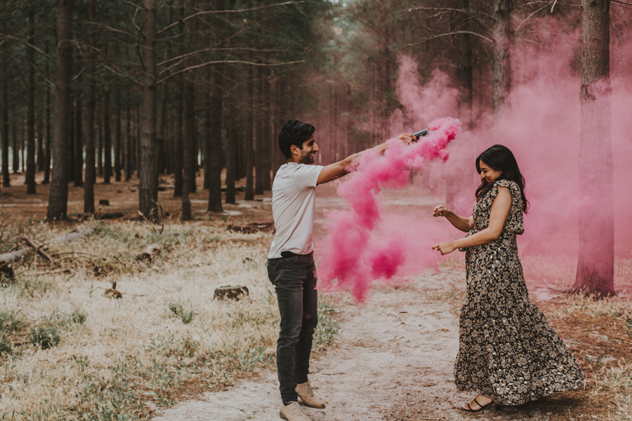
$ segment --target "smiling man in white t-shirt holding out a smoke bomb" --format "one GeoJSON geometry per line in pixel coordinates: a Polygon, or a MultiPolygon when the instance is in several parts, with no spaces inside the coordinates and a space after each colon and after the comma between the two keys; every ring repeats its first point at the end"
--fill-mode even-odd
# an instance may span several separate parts
{"type": "MultiPolygon", "coordinates": [[[[325,403],[314,394],[308,374],[312,337],[318,323],[316,267],[312,248],[315,187],[347,174],[362,152],[328,166],[314,163],[318,145],[314,126],[288,120],[279,133],[279,147],[287,163],[272,184],[272,217],[276,234],[268,254],[268,278],[275,286],[281,328],[277,341],[277,373],[282,406],[279,416],[288,421],[310,421],[298,398],[312,408],[325,403]]],[[[414,135],[397,136],[402,142],[414,135]]],[[[386,143],[374,147],[383,151],[386,143]]]]}

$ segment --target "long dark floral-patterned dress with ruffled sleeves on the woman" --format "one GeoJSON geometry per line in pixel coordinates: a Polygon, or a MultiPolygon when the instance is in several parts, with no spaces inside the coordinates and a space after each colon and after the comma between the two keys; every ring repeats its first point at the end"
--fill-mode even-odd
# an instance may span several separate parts
{"type": "Polygon", "coordinates": [[[466,248],[467,295],[461,308],[456,387],[500,405],[520,405],[577,389],[584,373],[529,294],[516,235],[524,232],[520,187],[497,180],[473,210],[468,236],[489,224],[499,187],[511,192],[511,210],[498,239],[466,248]]]}

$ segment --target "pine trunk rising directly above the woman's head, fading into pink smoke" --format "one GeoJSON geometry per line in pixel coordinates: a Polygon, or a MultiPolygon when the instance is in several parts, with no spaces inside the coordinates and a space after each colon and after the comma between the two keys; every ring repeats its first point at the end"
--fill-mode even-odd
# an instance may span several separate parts
{"type": "Polygon", "coordinates": [[[508,106],[511,89],[511,0],[494,0],[492,36],[492,109],[497,119],[508,106]]]}

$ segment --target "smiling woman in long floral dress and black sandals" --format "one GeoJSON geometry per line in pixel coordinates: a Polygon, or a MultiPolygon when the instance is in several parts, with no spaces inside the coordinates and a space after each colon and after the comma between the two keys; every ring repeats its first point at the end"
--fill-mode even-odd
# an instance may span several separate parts
{"type": "Polygon", "coordinates": [[[481,184],[470,218],[437,206],[468,232],[433,249],[466,251],[467,295],[459,320],[456,387],[478,395],[461,407],[478,411],[492,402],[520,405],[553,392],[577,389],[584,380],[574,356],[544,314],[529,301],[515,236],[527,212],[525,178],[511,151],[494,145],[476,159],[481,184]]]}

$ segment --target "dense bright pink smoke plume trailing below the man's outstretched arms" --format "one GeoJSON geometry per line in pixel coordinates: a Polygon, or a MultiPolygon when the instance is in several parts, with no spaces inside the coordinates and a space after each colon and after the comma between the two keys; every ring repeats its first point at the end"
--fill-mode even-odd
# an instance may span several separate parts
{"type": "MultiPolygon", "coordinates": [[[[322,247],[319,273],[321,286],[351,290],[362,302],[374,279],[393,279],[407,269],[407,260],[416,258],[416,268],[433,265],[433,259],[419,259],[419,235],[400,218],[383,218],[377,194],[383,187],[407,185],[411,171],[421,171],[427,161],[446,161],[448,143],[461,130],[451,118],[428,125],[430,132],[419,142],[404,145],[390,139],[381,156],[367,150],[352,173],[338,185],[350,208],[329,213],[329,234],[322,247]]],[[[416,230],[419,231],[419,230],[416,230]]],[[[426,244],[429,248],[431,244],[426,244]]]]}

